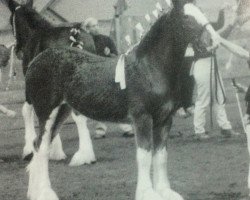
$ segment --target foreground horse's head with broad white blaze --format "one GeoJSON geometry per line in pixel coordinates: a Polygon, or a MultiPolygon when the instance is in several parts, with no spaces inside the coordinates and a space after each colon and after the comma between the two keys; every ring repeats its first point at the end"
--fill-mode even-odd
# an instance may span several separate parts
{"type": "Polygon", "coordinates": [[[176,16],[175,23],[181,27],[178,30],[178,35],[187,43],[192,43],[200,39],[200,42],[205,47],[211,45],[211,43],[206,42],[208,38],[209,41],[212,41],[212,47],[216,47],[219,44],[219,35],[193,2],[194,0],[172,0],[172,13],[176,16]],[[207,37],[204,37],[204,35],[207,37]]]}

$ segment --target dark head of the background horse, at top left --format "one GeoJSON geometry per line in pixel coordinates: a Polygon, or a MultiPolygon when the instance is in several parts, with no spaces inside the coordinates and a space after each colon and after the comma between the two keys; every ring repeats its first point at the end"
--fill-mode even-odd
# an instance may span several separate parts
{"type": "Polygon", "coordinates": [[[26,13],[33,10],[33,0],[27,1],[26,4],[18,4],[13,0],[8,0],[7,2],[8,8],[11,11],[10,23],[14,37],[16,38],[16,55],[19,59],[22,59],[25,44],[32,32],[26,19],[26,13]]]}

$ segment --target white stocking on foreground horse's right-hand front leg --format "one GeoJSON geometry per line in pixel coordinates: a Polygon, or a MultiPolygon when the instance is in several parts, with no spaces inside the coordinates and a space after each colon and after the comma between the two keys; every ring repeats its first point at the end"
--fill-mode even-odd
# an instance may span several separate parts
{"type": "Polygon", "coordinates": [[[167,150],[163,148],[158,150],[153,157],[153,177],[154,189],[166,200],[183,200],[183,198],[170,189],[167,175],[167,150]]]}

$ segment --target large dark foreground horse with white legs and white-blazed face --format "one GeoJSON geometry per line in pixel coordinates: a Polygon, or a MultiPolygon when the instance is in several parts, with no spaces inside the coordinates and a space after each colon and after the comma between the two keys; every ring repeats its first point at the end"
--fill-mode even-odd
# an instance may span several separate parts
{"type": "Polygon", "coordinates": [[[170,189],[166,171],[178,73],[188,43],[202,32],[209,32],[213,44],[219,36],[196,6],[184,0],[172,3],[172,11],[160,17],[125,57],[124,90],[115,83],[117,59],[74,48],[50,48],[30,63],[26,103],[34,107],[40,126],[36,152],[28,166],[31,200],[58,199],[48,174],[48,148],[71,109],[76,119],[78,113],[82,118],[115,122],[129,116],[136,131],[136,200],[183,199],[170,189]]]}

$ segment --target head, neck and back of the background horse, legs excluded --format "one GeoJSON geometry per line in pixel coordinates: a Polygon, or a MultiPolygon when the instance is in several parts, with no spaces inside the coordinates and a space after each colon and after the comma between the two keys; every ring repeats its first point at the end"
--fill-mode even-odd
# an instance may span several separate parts
{"type": "MultiPolygon", "coordinates": [[[[49,47],[70,46],[70,31],[79,29],[80,23],[55,26],[45,20],[33,7],[33,0],[20,5],[13,0],[6,0],[11,11],[10,23],[16,37],[16,54],[23,60],[23,72],[26,74],[29,62],[40,52],[49,47]]],[[[81,31],[78,40],[83,48],[96,53],[95,44],[90,34],[81,31]]]]}

